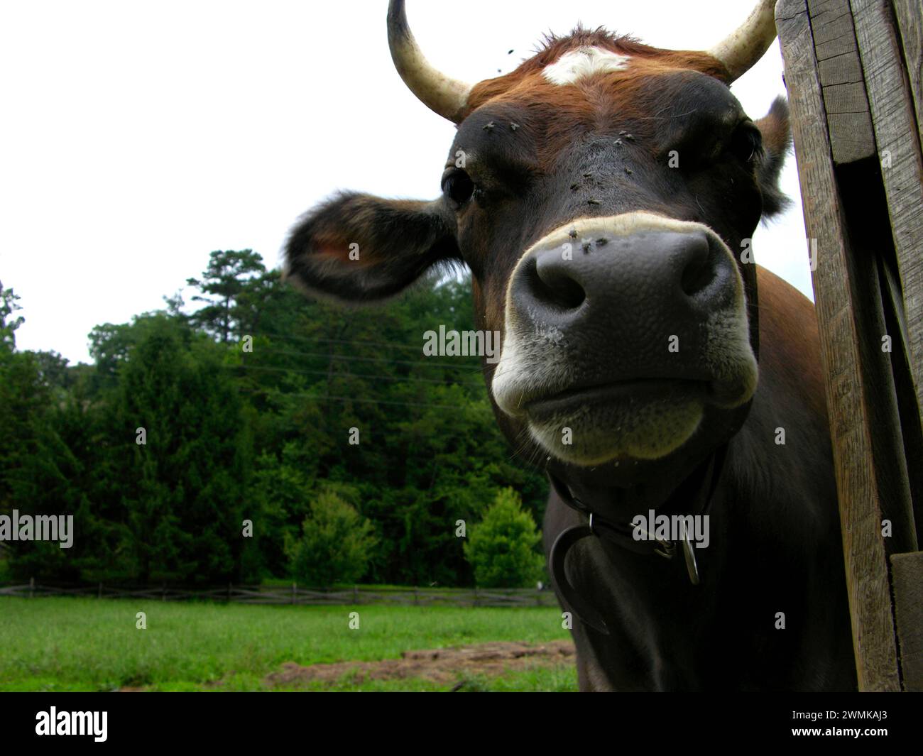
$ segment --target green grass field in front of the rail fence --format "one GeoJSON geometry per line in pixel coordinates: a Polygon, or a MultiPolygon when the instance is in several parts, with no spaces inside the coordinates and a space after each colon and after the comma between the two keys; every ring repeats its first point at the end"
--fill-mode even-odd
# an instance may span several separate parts
{"type": "MultiPolygon", "coordinates": [[[[285,662],[374,661],[402,651],[568,637],[557,608],[241,606],[93,598],[0,597],[0,690],[267,690],[285,662]],[[136,613],[147,613],[137,630],[136,613]],[[360,627],[349,628],[359,612],[360,627]]],[[[308,690],[447,690],[426,679],[336,683],[308,690]]],[[[576,690],[573,664],[463,690],[576,690]]],[[[274,689],[279,690],[279,689],[274,689]]],[[[301,690],[305,690],[304,686],[301,690]]]]}

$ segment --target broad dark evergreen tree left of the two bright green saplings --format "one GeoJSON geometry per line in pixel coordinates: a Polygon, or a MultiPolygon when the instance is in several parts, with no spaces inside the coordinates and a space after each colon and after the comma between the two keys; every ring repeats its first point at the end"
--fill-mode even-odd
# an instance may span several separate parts
{"type": "Polygon", "coordinates": [[[152,325],[119,371],[124,546],[144,582],[239,580],[250,454],[240,399],[219,347],[172,318],[152,325]]]}

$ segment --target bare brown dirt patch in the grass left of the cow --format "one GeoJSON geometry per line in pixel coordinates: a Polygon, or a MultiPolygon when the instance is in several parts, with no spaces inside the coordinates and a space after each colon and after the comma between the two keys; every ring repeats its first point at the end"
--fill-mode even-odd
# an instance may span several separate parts
{"type": "Polygon", "coordinates": [[[336,662],[302,666],[294,662],[265,678],[270,688],[298,688],[317,682],[335,683],[349,676],[366,680],[421,678],[439,684],[457,682],[473,675],[498,677],[511,670],[532,666],[573,663],[574,644],[569,640],[548,643],[494,642],[454,648],[405,651],[400,659],[378,662],[336,662]]]}

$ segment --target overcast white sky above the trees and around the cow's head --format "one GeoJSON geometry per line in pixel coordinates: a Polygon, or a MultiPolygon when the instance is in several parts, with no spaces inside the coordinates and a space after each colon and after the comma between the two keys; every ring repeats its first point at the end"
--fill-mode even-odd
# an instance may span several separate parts
{"type": "MultiPolygon", "coordinates": [[[[386,0],[30,0],[0,6],[0,281],[21,349],[89,360],[87,334],[163,306],[214,249],[270,267],[294,219],[337,188],[434,198],[453,126],[390,62],[386,0]]],[[[749,0],[410,0],[430,60],[497,76],[577,21],[703,49],[749,0]],[[513,54],[508,54],[513,49],[513,54]]],[[[734,86],[784,94],[774,44],[734,86]]],[[[798,199],[794,157],[783,186],[798,199]]],[[[810,295],[800,204],[754,237],[810,295]]]]}

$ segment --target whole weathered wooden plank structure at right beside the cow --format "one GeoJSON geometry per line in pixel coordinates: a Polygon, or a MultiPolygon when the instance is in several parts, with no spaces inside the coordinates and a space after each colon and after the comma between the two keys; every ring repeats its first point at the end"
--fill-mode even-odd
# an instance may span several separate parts
{"type": "Polygon", "coordinates": [[[923,690],[919,0],[779,0],[775,17],[859,690],[923,690]]]}

